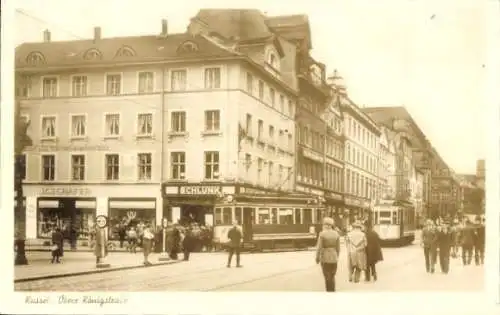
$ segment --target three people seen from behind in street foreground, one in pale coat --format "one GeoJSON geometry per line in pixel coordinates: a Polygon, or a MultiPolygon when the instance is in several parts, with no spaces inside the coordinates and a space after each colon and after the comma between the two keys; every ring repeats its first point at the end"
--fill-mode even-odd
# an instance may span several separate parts
{"type": "MultiPolygon", "coordinates": [[[[323,219],[323,230],[318,235],[316,263],[321,264],[327,292],[334,292],[335,275],[340,257],[340,232],[332,218],[323,219]]],[[[359,282],[362,272],[365,281],[377,280],[375,265],[383,260],[380,238],[369,224],[354,222],[345,236],[349,281],[359,282]]]]}

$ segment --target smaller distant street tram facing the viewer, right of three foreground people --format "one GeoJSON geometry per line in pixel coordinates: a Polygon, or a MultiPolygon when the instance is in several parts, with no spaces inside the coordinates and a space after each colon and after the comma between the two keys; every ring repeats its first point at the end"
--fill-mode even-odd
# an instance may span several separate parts
{"type": "Polygon", "coordinates": [[[382,245],[410,245],[415,240],[415,216],[415,207],[410,203],[383,201],[373,207],[373,229],[382,245]]]}

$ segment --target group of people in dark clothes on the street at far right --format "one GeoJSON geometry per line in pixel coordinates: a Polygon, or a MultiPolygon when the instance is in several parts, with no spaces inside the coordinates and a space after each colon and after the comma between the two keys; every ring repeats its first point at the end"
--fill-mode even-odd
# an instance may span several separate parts
{"type": "Polygon", "coordinates": [[[441,272],[450,271],[450,257],[458,258],[459,249],[462,249],[461,258],[464,266],[472,263],[484,263],[485,221],[479,216],[474,223],[466,218],[462,223],[458,220],[427,220],[422,229],[421,245],[424,249],[425,269],[429,273],[435,272],[438,262],[441,272]]]}

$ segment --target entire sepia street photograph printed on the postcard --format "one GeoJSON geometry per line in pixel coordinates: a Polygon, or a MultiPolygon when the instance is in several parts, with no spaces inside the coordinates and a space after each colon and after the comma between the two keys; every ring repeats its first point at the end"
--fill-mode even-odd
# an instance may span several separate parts
{"type": "Polygon", "coordinates": [[[359,3],[11,4],[14,291],[483,292],[487,6],[359,3]]]}

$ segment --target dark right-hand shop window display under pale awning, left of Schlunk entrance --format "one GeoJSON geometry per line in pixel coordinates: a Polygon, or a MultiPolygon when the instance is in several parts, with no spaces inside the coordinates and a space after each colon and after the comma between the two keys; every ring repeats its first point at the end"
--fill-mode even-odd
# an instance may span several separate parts
{"type": "Polygon", "coordinates": [[[109,239],[118,240],[120,225],[126,228],[140,222],[150,223],[156,229],[156,209],[109,209],[109,239]]]}

